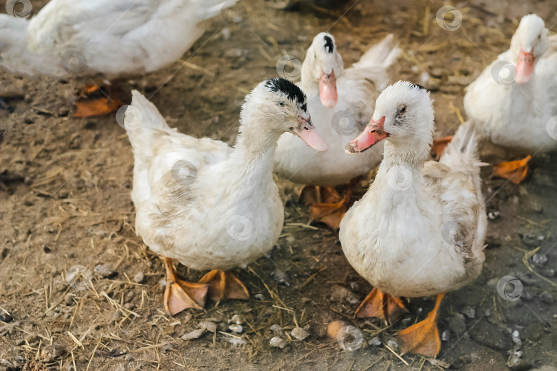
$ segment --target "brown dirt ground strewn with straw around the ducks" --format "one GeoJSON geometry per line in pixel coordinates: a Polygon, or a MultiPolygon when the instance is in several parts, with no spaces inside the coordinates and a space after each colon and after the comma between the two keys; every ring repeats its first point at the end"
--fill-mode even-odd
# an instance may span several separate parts
{"type": "MultiPolygon", "coordinates": [[[[45,2],[32,1],[33,12],[45,2]]],[[[4,5],[0,0],[0,9],[4,5]]],[[[455,131],[459,114],[466,119],[464,87],[507,49],[521,16],[536,12],[552,32],[557,30],[555,1],[455,3],[462,22],[454,31],[435,20],[442,5],[437,0],[361,0],[334,10],[302,4],[282,11],[262,1],[242,1],[243,22],[210,21],[182,61],[122,82],[124,101],[129,102],[131,89],[155,93],[151,100],[171,126],[232,143],[245,94],[276,76],[281,56],[303,60],[314,35],[327,30],[350,65],[393,32],[404,53],[391,80],[431,89],[435,135],[441,137],[455,131]]],[[[446,296],[438,359],[401,358],[392,341],[396,331],[423,319],[432,298],[412,300],[409,313],[390,326],[353,319],[371,286],[345,260],[336,232],[307,225],[307,207],[285,181],[279,181],[287,201],[277,246],[249,269],[236,271],[251,300],[166,315],[162,260],[133,228],[127,136],[114,115],[73,117],[72,101],[82,83],[0,72],[0,370],[557,366],[557,155],[537,155],[532,174],[520,186],[494,179],[484,168],[490,225],[483,273],[446,296]],[[104,267],[95,269],[98,265],[104,267]],[[75,266],[91,272],[91,284],[68,284],[68,271],[75,266]],[[143,279],[135,282],[138,273],[143,279]],[[496,291],[505,276],[523,286],[518,300],[505,300],[496,291]],[[242,333],[228,328],[234,314],[245,319],[242,333]],[[337,319],[356,327],[345,340],[347,349],[327,337],[327,324],[337,319]],[[181,338],[208,320],[217,324],[214,333],[181,338]],[[283,328],[283,349],[270,346],[274,324],[283,328]],[[307,339],[290,335],[295,326],[307,330],[307,339]]],[[[512,156],[489,145],[482,153],[492,163],[512,156]]],[[[373,172],[361,181],[355,199],[372,179],[373,172]]],[[[178,271],[188,280],[204,273],[181,265],[178,271]]]]}

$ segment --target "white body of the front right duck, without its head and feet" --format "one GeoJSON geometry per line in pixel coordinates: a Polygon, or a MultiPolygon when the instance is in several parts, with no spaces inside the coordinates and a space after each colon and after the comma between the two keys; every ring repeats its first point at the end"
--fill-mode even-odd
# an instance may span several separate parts
{"type": "MultiPolygon", "coordinates": [[[[431,135],[424,137],[427,145],[431,135]]],[[[459,289],[479,275],[487,221],[476,147],[462,126],[441,161],[424,166],[419,157],[406,162],[386,142],[375,181],[340,224],[347,259],[373,286],[426,296],[459,289]]]]}

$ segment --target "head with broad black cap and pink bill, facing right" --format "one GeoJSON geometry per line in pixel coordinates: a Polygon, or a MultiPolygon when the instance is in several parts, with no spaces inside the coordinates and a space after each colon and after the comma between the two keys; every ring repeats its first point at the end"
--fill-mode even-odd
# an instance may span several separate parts
{"type": "MultiPolygon", "coordinates": [[[[329,149],[307,112],[307,97],[294,83],[284,78],[260,82],[245,97],[241,111],[242,122],[255,121],[258,130],[273,133],[278,138],[285,132],[292,133],[316,150],[329,149]]],[[[242,130],[242,128],[241,128],[242,130]]]]}

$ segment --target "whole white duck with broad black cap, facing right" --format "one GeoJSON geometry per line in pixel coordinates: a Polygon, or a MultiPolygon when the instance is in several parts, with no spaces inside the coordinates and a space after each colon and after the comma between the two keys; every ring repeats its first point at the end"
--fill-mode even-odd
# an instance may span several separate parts
{"type": "Polygon", "coordinates": [[[288,80],[261,82],[245,98],[234,148],[168,127],[138,91],[124,116],[133,148],[135,230],[164,256],[166,311],[213,300],[247,298],[232,273],[269,251],[283,227],[283,203],[272,176],[276,141],[286,131],[327,150],[312,124],[304,93],[288,80]],[[200,283],[175,277],[172,259],[214,269],[200,283]]]}

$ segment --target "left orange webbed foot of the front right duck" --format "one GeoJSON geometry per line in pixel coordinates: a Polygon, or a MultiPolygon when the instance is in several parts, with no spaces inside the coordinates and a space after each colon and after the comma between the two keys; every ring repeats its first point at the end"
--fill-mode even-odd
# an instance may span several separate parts
{"type": "Polygon", "coordinates": [[[404,312],[406,312],[406,308],[402,300],[374,287],[356,309],[356,317],[377,317],[388,322],[389,320],[394,321],[404,312]]]}

